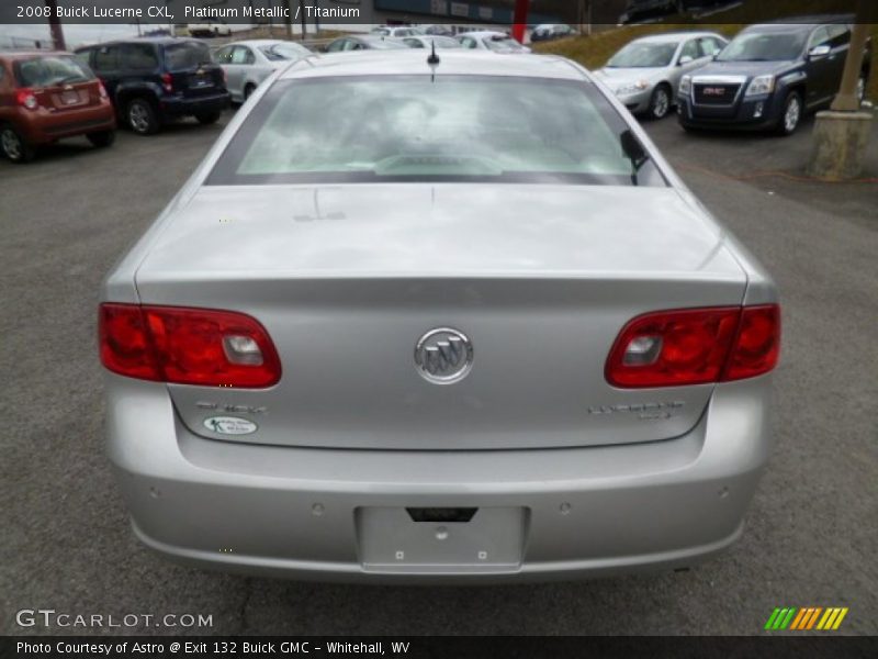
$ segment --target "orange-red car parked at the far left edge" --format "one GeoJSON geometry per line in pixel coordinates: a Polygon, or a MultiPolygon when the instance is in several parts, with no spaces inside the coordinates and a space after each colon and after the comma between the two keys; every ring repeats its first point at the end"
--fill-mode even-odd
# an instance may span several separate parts
{"type": "Polygon", "coordinates": [[[113,105],[101,81],[69,53],[0,51],[0,148],[27,163],[36,147],[85,135],[94,146],[115,137],[113,105]]]}

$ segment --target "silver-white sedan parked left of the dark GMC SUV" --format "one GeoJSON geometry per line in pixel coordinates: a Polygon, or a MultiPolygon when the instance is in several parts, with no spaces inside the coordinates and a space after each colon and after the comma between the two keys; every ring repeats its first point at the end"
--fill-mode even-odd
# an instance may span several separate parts
{"type": "Polygon", "coordinates": [[[637,38],[597,71],[634,114],[662,119],[677,102],[683,76],[700,69],[725,44],[714,32],[676,32],[637,38]]]}

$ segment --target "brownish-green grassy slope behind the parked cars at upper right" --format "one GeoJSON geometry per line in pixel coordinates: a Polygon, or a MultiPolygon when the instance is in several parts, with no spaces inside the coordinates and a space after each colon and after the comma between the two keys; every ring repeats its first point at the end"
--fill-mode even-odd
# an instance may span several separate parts
{"type": "MultiPolygon", "coordinates": [[[[800,8],[798,13],[801,13],[801,0],[797,0],[792,3],[793,7],[800,8]]],[[[778,8],[783,8],[784,0],[777,0],[777,5],[778,8]]],[[[609,30],[607,32],[600,32],[594,34],[593,36],[577,36],[542,44],[534,44],[534,51],[539,53],[554,53],[556,55],[563,55],[564,57],[575,59],[589,69],[595,69],[604,66],[607,59],[609,59],[610,56],[616,53],[616,51],[621,48],[628,42],[648,34],[697,29],[713,30],[729,37],[734,36],[741,29],[748,24],[746,21],[747,15],[745,10],[745,7],[741,7],[723,13],[723,20],[728,20],[730,22],[722,24],[698,23],[696,25],[693,23],[654,23],[650,25],[628,25],[624,27],[609,30]]],[[[787,15],[789,15],[789,13],[787,15]]],[[[678,18],[677,20],[680,19],[678,18]]],[[[869,24],[869,32],[873,41],[873,63],[871,79],[869,80],[869,87],[866,90],[866,96],[873,101],[878,102],[878,23],[869,24]]]]}

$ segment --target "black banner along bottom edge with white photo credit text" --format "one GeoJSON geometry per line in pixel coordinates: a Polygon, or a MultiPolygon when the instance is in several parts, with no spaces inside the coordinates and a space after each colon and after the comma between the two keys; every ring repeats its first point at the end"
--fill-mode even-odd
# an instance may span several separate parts
{"type": "Polygon", "coordinates": [[[0,657],[133,657],[171,658],[290,658],[325,657],[426,659],[538,658],[552,659],[649,657],[660,659],[878,657],[878,637],[774,636],[774,637],[576,637],[576,636],[7,636],[0,638],[0,657]]]}

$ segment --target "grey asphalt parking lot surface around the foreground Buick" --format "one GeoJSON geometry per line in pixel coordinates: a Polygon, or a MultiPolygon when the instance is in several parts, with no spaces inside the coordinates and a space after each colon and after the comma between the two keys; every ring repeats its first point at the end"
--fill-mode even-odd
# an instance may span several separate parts
{"type": "MultiPolygon", "coordinates": [[[[137,544],[102,446],[95,301],[222,125],[0,163],[0,633],[15,612],[207,614],[216,634],[759,634],[775,606],[848,606],[878,634],[878,179],[802,179],[784,139],[648,124],[784,302],[774,459],[742,540],[689,572],[480,588],[326,585],[167,563],[137,544]]],[[[868,177],[878,177],[878,130],[868,177]]],[[[85,632],[87,633],[87,632],[85,632]]]]}

